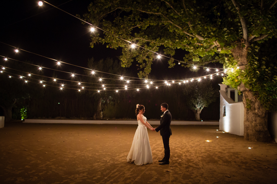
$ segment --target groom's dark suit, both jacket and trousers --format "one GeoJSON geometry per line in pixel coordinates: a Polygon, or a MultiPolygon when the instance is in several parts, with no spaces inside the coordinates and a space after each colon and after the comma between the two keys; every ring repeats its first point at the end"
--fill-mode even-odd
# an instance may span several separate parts
{"type": "Polygon", "coordinates": [[[170,124],[171,124],[171,113],[169,111],[163,114],[161,117],[160,126],[158,126],[155,130],[156,132],[160,131],[160,134],[163,138],[163,147],[164,147],[164,161],[169,162],[170,157],[170,148],[169,148],[169,137],[172,135],[170,124]]]}

